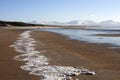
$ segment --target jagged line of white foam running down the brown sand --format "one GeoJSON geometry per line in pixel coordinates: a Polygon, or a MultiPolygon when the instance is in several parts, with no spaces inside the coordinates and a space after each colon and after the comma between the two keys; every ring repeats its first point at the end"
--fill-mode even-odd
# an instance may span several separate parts
{"type": "Polygon", "coordinates": [[[21,69],[40,76],[42,80],[71,80],[72,76],[79,74],[95,74],[94,71],[82,67],[49,65],[48,58],[42,55],[46,50],[35,50],[36,41],[31,38],[30,33],[31,31],[23,32],[19,35],[18,40],[10,46],[15,51],[22,53],[14,58],[18,61],[25,61],[25,65],[20,66],[21,69]]]}

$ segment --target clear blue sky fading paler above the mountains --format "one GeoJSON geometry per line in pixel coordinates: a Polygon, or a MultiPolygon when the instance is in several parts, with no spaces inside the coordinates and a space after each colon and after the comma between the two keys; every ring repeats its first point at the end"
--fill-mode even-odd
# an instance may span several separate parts
{"type": "Polygon", "coordinates": [[[120,21],[120,0],[0,0],[0,20],[120,21]]]}

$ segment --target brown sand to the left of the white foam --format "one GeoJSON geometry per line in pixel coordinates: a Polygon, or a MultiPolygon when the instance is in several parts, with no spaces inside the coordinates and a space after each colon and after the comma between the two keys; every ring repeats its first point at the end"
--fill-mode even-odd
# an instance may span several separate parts
{"type": "Polygon", "coordinates": [[[0,29],[0,80],[40,80],[38,76],[29,75],[20,69],[23,62],[14,60],[15,52],[9,46],[17,40],[21,30],[0,29]]]}

